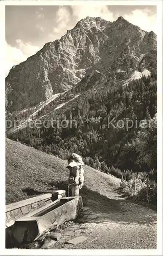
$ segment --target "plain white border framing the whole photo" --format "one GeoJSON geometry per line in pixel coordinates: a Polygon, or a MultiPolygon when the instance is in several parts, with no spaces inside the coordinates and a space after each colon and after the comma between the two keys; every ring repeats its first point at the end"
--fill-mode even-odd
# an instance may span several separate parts
{"type": "Polygon", "coordinates": [[[75,1],[51,1],[51,0],[21,0],[21,1],[0,1],[0,46],[1,46],[1,87],[0,87],[0,104],[1,104],[1,120],[0,135],[1,135],[1,255],[162,255],[162,1],[161,0],[75,0],[75,1]],[[5,6],[12,5],[57,5],[57,6],[72,6],[72,5],[89,5],[96,6],[157,6],[157,249],[153,250],[25,250],[25,249],[5,249],[5,6]]]}

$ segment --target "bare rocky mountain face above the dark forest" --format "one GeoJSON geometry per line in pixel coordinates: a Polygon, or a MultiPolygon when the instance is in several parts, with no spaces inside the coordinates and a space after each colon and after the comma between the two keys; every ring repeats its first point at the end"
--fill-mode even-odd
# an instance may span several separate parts
{"type": "MultiPolygon", "coordinates": [[[[72,30],[48,42],[35,55],[14,66],[6,77],[6,105],[19,111],[79,84],[91,73],[125,81],[135,72],[156,69],[156,35],[119,17],[80,20],[72,30]]],[[[95,81],[96,83],[96,81],[95,81]]],[[[83,83],[82,83],[83,84],[83,83]]]]}

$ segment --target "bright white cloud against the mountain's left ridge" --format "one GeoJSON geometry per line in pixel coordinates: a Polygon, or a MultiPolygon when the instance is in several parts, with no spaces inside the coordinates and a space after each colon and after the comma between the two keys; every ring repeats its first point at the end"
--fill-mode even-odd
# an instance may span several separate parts
{"type": "Polygon", "coordinates": [[[5,72],[8,75],[10,69],[18,65],[20,62],[25,61],[29,56],[35,54],[39,47],[31,45],[29,42],[23,42],[20,39],[16,40],[17,47],[12,47],[6,42],[6,62],[5,72]]]}

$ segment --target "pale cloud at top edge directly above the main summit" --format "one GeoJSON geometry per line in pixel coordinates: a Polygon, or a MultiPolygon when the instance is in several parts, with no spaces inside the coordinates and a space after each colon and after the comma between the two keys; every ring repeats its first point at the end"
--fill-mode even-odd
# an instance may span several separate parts
{"type": "Polygon", "coordinates": [[[109,11],[107,6],[71,6],[73,15],[76,17],[78,22],[82,18],[90,17],[101,17],[105,20],[112,22],[114,20],[113,13],[109,11]]]}

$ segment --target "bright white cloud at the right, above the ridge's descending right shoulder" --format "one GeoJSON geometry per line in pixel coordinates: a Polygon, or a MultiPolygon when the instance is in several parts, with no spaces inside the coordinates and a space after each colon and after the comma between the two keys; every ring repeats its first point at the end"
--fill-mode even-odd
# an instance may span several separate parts
{"type": "Polygon", "coordinates": [[[150,12],[147,8],[144,10],[133,10],[131,14],[123,16],[128,22],[140,27],[145,31],[157,32],[157,18],[156,14],[150,12]]]}

